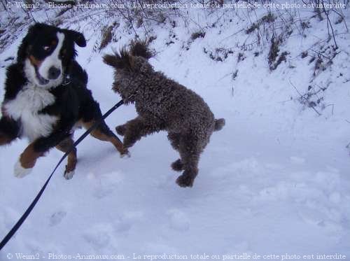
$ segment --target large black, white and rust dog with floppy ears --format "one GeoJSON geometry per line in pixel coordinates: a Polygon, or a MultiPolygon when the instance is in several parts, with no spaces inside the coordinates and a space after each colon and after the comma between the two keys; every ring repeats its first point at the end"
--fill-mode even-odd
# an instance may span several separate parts
{"type": "MultiPolygon", "coordinates": [[[[0,145],[23,136],[29,139],[29,146],[15,164],[15,176],[19,178],[29,174],[38,157],[50,148],[69,150],[75,127],[89,128],[102,118],[99,104],[86,87],[87,73],[75,60],[75,43],[86,45],[78,31],[34,24],[22,40],[17,62],[8,66],[0,145]]],[[[128,153],[105,122],[92,136],[113,143],[122,156],[128,153]]],[[[71,178],[75,168],[73,150],[64,177],[71,178]]]]}

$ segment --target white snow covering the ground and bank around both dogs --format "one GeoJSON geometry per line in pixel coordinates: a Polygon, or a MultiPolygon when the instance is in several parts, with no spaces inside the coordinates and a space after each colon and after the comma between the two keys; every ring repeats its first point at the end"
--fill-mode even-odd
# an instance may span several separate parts
{"type": "MultiPolygon", "coordinates": [[[[323,27],[315,22],[314,35],[323,37],[323,27]]],[[[307,85],[311,75],[311,66],[297,52],[309,48],[313,36],[305,41],[291,37],[285,48],[290,47],[289,63],[295,68],[282,64],[273,73],[267,52],[258,57],[248,52],[237,63],[237,54],[216,62],[202,51],[224,39],[233,46],[241,39],[228,37],[239,29],[230,24],[209,29],[189,50],[182,46],[190,31],[175,27],[176,41],[167,46],[169,28],[155,29],[155,69],[195,90],[217,118],[226,119],[202,155],[193,188],[175,184],[179,174],[169,165],[178,155],[165,133],[139,141],[130,150],[132,157],[123,159],[110,144],[89,137],[78,146],[76,175],[66,181],[64,166],[59,168],[0,259],[7,260],[8,253],[38,254],[42,260],[49,253],[126,259],[162,253],[190,259],[191,254],[207,253],[209,260],[214,259],[211,255],[223,260],[223,255],[257,253],[280,255],[275,260],[297,254],[302,260],[302,255],[341,253],[350,260],[350,158],[345,148],[350,141],[350,85],[337,78],[339,72],[349,78],[349,34],[339,39],[344,52],[320,80],[331,82],[327,99],[335,104],[334,110],[318,116],[311,108],[302,110],[295,99],[290,101],[297,97],[290,82],[307,85]],[[239,75],[232,80],[235,69],[239,75]]],[[[87,48],[78,49],[78,62],[89,73],[88,86],[106,111],[120,99],[111,91],[113,71],[102,63],[101,54],[91,55],[94,36],[85,35],[90,41],[87,48]]],[[[15,55],[19,43],[0,54],[2,64],[15,55]]],[[[119,46],[112,44],[104,52],[119,46]]],[[[1,85],[4,75],[1,69],[1,85]]],[[[123,106],[107,123],[115,127],[134,115],[133,106],[123,106]]],[[[18,179],[13,165],[26,144],[22,140],[0,148],[0,237],[22,215],[62,156],[50,151],[30,176],[18,179]]]]}

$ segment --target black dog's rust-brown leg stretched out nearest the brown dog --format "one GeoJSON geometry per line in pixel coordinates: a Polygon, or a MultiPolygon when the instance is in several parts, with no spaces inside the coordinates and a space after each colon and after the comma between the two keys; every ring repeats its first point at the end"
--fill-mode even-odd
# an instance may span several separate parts
{"type": "MultiPolygon", "coordinates": [[[[94,120],[90,122],[83,122],[83,127],[85,129],[89,129],[92,125],[94,125],[94,120]]],[[[114,134],[111,129],[106,125],[106,122],[102,122],[96,129],[91,132],[91,136],[100,141],[109,141],[113,144],[114,147],[119,151],[120,157],[125,155],[129,155],[127,148],[124,148],[122,141],[118,139],[116,134],[114,134]]]]}

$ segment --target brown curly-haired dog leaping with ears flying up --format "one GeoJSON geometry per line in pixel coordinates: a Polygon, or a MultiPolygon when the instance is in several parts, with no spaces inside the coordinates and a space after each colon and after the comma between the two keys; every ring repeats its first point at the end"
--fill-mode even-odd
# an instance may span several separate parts
{"type": "Polygon", "coordinates": [[[176,183],[192,187],[200,153],[211,134],[225,125],[225,120],[215,120],[209,106],[195,92],[154,71],[148,63],[152,56],[146,41],[132,41],[129,50],[123,48],[120,53],[104,56],[104,62],[116,69],[113,90],[123,97],[125,104],[134,103],[139,114],[116,130],[124,136],[125,148],[142,136],[167,131],[181,157],[172,163],[175,171],[183,170],[176,183]]]}

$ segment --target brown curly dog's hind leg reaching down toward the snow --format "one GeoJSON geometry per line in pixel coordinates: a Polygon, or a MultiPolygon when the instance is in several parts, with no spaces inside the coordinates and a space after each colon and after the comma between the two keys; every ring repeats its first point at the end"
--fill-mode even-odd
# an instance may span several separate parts
{"type": "Polygon", "coordinates": [[[204,146],[202,140],[195,135],[181,136],[179,152],[184,171],[183,174],[176,179],[176,183],[179,186],[183,188],[193,186],[195,177],[198,174],[200,153],[202,153],[204,146]]]}

